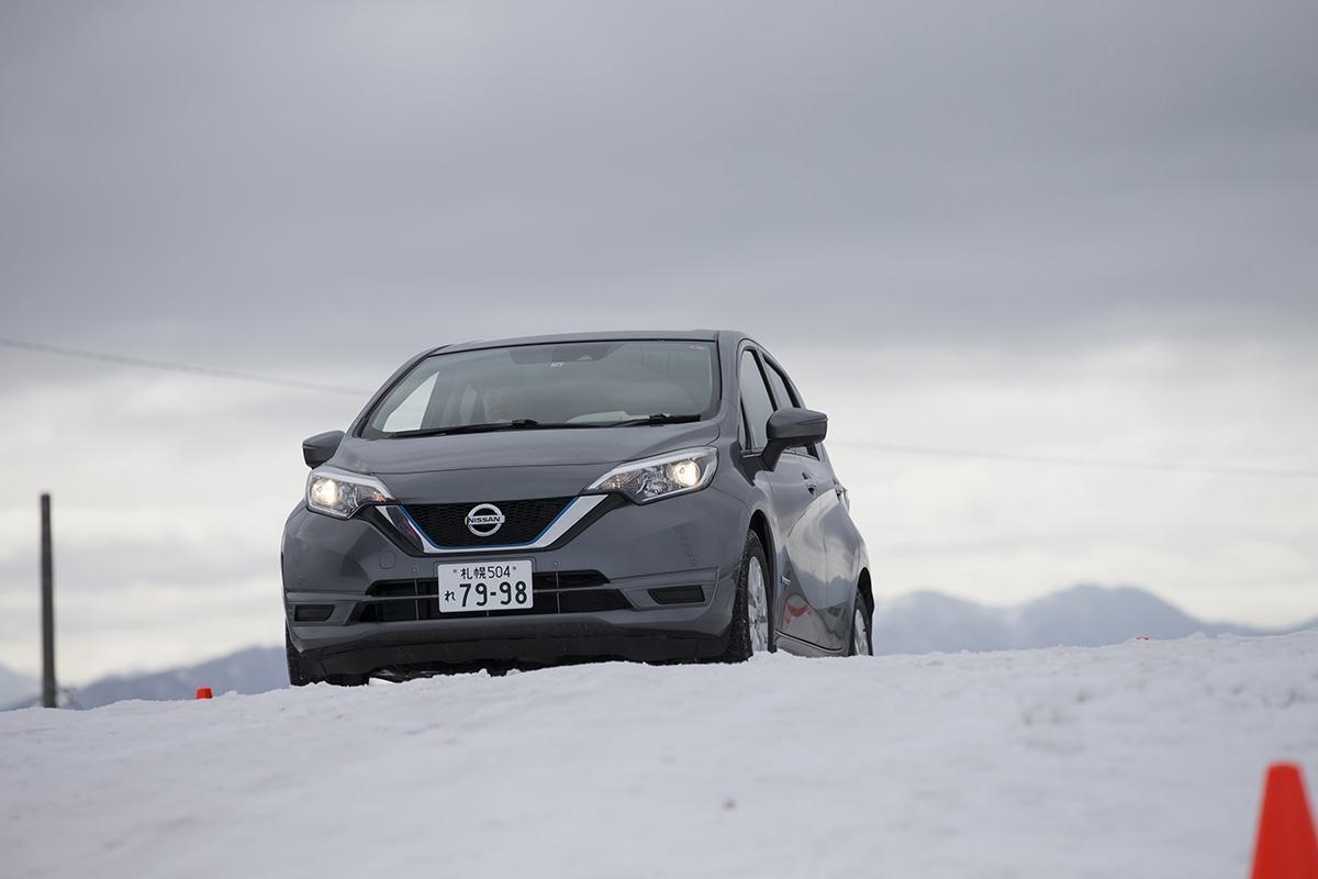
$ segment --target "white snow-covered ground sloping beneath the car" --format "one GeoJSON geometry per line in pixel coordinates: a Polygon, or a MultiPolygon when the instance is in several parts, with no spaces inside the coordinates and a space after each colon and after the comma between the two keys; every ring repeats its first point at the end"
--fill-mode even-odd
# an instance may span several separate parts
{"type": "Polygon", "coordinates": [[[0,716],[4,876],[1231,876],[1318,633],[0,716]]]}

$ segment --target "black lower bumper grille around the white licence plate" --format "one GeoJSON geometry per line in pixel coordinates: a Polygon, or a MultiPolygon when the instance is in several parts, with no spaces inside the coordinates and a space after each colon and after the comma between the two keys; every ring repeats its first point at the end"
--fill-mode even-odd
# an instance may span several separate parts
{"type": "Polygon", "coordinates": [[[439,613],[439,581],[385,580],[373,582],[369,598],[357,605],[353,622],[413,622],[416,619],[477,619],[481,617],[539,617],[544,614],[598,613],[631,610],[617,589],[608,589],[609,579],[598,571],[564,571],[532,575],[535,604],[525,610],[474,610],[472,613],[439,613]]]}

